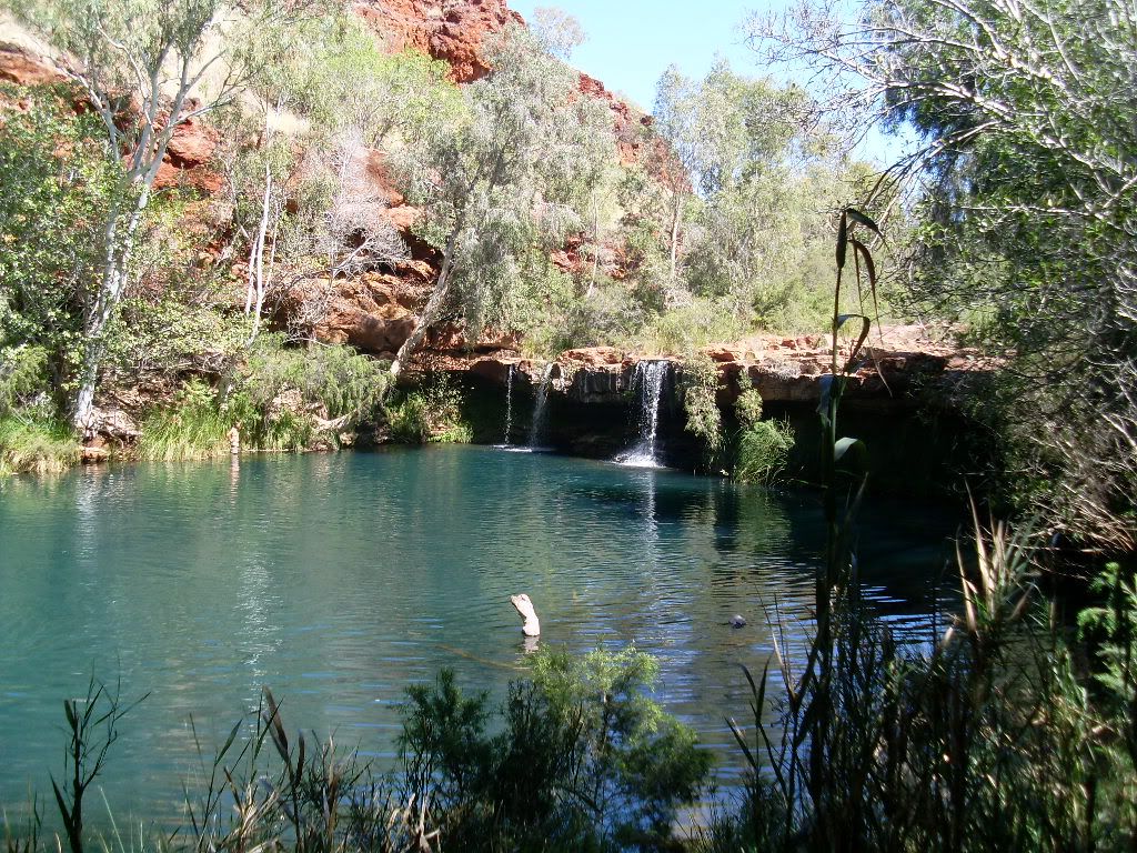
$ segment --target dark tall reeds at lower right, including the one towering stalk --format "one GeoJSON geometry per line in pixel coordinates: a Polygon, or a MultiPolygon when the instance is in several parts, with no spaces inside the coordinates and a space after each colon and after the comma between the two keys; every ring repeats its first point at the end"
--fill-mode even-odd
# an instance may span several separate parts
{"type": "Polygon", "coordinates": [[[816,579],[816,628],[795,655],[783,644],[755,676],[749,731],[730,721],[748,767],[739,810],[714,821],[705,851],[1121,851],[1137,845],[1137,585],[1111,569],[1092,678],[1071,631],[1035,585],[1027,532],[976,514],[957,555],[962,613],[923,651],[901,647],[858,596],[852,519],[866,450],[838,438],[845,376],[868,336],[865,316],[837,314],[854,250],[860,285],[875,273],[841,218],[832,371],[821,401],[828,538],[816,579]],[[838,331],[861,330],[844,366],[838,331]],[[847,498],[838,500],[838,490],[847,498]],[[844,503],[844,510],[841,510],[844,503]],[[771,669],[782,688],[766,724],[771,669]]]}

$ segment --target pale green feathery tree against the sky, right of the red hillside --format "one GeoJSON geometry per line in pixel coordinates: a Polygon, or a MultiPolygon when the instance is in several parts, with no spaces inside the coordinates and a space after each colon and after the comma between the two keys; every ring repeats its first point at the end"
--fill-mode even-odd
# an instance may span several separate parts
{"type": "Polygon", "coordinates": [[[813,98],[725,61],[698,81],[671,68],[658,92],[655,126],[679,167],[663,180],[673,281],[742,325],[821,322],[811,291],[856,168],[813,98]]]}

